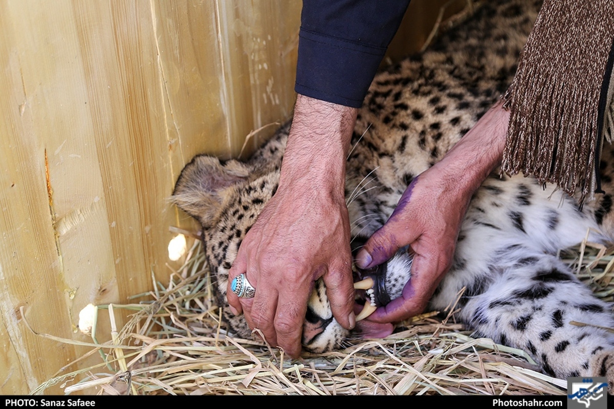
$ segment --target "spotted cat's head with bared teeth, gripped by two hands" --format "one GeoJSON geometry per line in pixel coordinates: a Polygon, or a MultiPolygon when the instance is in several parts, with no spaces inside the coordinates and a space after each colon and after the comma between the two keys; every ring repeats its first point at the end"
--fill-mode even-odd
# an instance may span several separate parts
{"type": "MultiPolygon", "coordinates": [[[[249,162],[222,162],[211,156],[196,156],[182,170],[173,193],[173,202],[203,227],[203,242],[217,304],[222,307],[225,321],[243,338],[251,338],[252,331],[243,316],[233,315],[228,308],[228,270],[235,261],[241,240],[277,189],[283,142],[285,140],[269,142],[257,153],[261,156],[249,162]],[[262,158],[263,150],[268,155],[279,155],[279,158],[262,158]]],[[[410,266],[411,259],[407,251],[402,250],[376,269],[357,270],[354,279],[366,279],[356,284],[358,303],[383,305],[399,296],[409,279],[410,266]]],[[[357,305],[356,308],[360,310],[362,307],[357,305]]],[[[375,308],[365,308],[358,318],[362,319],[373,310],[375,308]]],[[[349,337],[361,334],[385,336],[392,332],[392,325],[363,321],[357,325],[357,332],[351,334],[335,321],[324,283],[317,281],[303,325],[303,348],[322,353],[339,348],[349,337]]]]}

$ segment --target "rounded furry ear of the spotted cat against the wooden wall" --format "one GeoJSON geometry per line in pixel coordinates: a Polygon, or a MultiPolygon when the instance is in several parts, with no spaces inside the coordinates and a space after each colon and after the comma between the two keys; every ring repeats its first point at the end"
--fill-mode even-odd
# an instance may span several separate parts
{"type": "Polygon", "coordinates": [[[223,191],[249,176],[246,164],[230,160],[220,163],[212,156],[198,155],[181,171],[171,202],[200,221],[212,226],[222,210],[223,191]]]}

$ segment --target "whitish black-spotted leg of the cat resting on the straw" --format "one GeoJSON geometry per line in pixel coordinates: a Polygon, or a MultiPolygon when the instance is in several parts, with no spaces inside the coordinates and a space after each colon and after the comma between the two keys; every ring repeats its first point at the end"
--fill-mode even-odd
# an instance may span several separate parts
{"type": "Polygon", "coordinates": [[[612,383],[614,334],[603,329],[614,328],[608,305],[554,256],[516,260],[477,279],[488,284],[465,298],[462,319],[477,336],[528,351],[550,375],[605,376],[612,383]]]}

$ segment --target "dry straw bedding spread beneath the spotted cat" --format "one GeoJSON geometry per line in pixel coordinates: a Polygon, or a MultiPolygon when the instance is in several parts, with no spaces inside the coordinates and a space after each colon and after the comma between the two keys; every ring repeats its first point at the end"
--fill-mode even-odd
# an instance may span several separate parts
{"type": "MultiPolygon", "coordinates": [[[[614,299],[614,247],[584,242],[562,258],[597,296],[614,299]]],[[[524,351],[471,338],[454,322],[454,305],[439,315],[445,318],[416,317],[386,339],[349,340],[344,350],[303,353],[297,360],[265,343],[233,338],[212,303],[198,240],[168,287],[155,283],[150,296],[142,304],[98,307],[111,323],[118,308],[136,312],[122,329],[113,328],[111,342],[91,343],[80,358],[100,353],[99,365],[58,374],[33,393],[58,383],[67,394],[177,395],[529,395],[565,394],[567,387],[538,372],[524,351]]]]}

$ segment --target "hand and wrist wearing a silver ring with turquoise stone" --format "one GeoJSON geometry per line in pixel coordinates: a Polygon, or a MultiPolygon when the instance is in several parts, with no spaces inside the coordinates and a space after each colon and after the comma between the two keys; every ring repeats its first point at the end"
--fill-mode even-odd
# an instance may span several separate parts
{"type": "Polygon", "coordinates": [[[239,247],[228,272],[235,313],[273,346],[300,353],[314,282],[322,277],[338,323],[354,327],[345,161],[356,109],[299,96],[279,188],[239,247]],[[239,299],[230,283],[241,273],[256,289],[239,299]]]}

